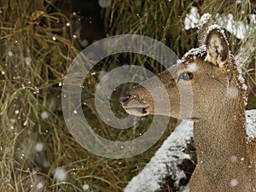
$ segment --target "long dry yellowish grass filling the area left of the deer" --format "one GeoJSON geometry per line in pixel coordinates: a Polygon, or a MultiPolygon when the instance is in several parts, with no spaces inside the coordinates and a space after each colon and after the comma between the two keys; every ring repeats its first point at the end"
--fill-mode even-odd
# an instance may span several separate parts
{"type": "MultiPolygon", "coordinates": [[[[0,189],[20,192],[33,186],[40,191],[35,187],[44,183],[45,191],[83,191],[87,183],[90,189],[121,191],[153,152],[129,160],[106,159],[87,152],[70,135],[61,113],[60,83],[80,51],[72,25],[66,25],[71,18],[56,11],[50,1],[1,4],[0,189]],[[37,143],[44,143],[42,153],[34,152],[37,143]],[[65,181],[55,181],[56,167],[67,172],[65,181]]],[[[98,125],[97,133],[122,139],[95,114],[91,103],[96,82],[94,76],[86,79],[84,110],[98,125]]],[[[131,129],[127,135],[134,137],[138,131],[131,129]]]]}

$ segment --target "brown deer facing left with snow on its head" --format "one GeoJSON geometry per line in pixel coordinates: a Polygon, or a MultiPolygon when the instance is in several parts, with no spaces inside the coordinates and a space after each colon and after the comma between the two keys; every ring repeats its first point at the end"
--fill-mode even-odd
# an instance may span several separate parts
{"type": "Polygon", "coordinates": [[[136,116],[157,114],[194,122],[198,164],[189,180],[190,192],[256,191],[256,141],[246,139],[246,85],[223,30],[209,14],[201,17],[198,41],[199,47],[177,64],[127,90],[122,107],[136,116]],[[151,96],[155,79],[169,99],[157,97],[160,110],[155,110],[151,96]],[[190,86],[192,93],[187,91],[190,86]],[[191,104],[189,113],[186,106],[191,104]]]}

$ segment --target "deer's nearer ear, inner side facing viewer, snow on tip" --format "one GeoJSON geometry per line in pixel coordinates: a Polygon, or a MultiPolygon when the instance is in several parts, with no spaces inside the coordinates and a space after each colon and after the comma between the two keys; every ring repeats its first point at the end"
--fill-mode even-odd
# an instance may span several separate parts
{"type": "Polygon", "coordinates": [[[212,62],[218,67],[224,67],[224,64],[229,59],[229,45],[224,36],[224,33],[220,31],[219,26],[212,25],[209,27],[206,38],[207,46],[207,61],[212,62]]]}

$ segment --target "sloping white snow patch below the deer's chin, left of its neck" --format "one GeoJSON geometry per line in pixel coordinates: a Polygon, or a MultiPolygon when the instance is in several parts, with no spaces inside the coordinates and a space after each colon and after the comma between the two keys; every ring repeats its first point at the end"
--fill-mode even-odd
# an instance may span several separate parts
{"type": "Polygon", "coordinates": [[[182,121],[143,168],[143,171],[131,179],[124,191],[155,191],[160,189],[160,183],[164,183],[168,175],[178,183],[182,177],[185,177],[185,174],[177,165],[184,159],[190,159],[189,154],[185,154],[183,149],[187,147],[187,142],[191,137],[193,137],[193,122],[182,121]]]}

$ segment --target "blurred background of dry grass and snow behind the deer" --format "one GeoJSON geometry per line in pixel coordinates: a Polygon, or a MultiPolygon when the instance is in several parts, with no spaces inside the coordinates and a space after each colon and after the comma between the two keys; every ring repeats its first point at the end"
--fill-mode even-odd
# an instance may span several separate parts
{"type": "MultiPolygon", "coordinates": [[[[170,118],[154,147],[121,160],[96,156],[76,143],[62,116],[62,82],[75,56],[102,38],[148,36],[181,58],[198,46],[200,16],[210,13],[225,29],[246,79],[247,108],[256,108],[255,8],[253,0],[1,0],[0,190],[122,191],[173,131],[177,120],[170,118]]],[[[155,74],[165,69],[153,59],[130,53],[111,55],[91,69],[82,91],[84,116],[97,134],[113,141],[141,136],[152,121],[152,116],[143,117],[130,129],[117,130],[96,112],[94,96],[102,75],[125,64],[155,74]]],[[[134,79],[142,76],[134,74],[134,79]]],[[[133,85],[119,86],[109,98],[119,118],[127,115],[119,96],[133,85]]]]}

